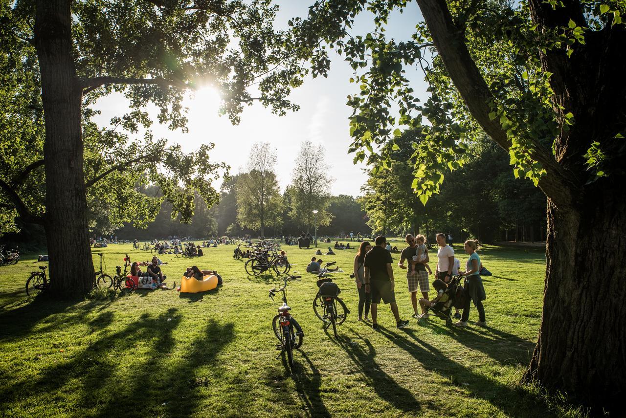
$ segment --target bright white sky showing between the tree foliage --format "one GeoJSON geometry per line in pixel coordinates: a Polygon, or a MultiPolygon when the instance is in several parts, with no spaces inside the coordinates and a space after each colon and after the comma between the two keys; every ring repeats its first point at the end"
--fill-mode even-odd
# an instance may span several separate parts
{"type": "MultiPolygon", "coordinates": [[[[283,0],[278,2],[277,27],[286,28],[287,20],[295,16],[305,18],[313,0],[283,0]]],[[[421,21],[421,13],[414,3],[403,14],[394,13],[389,19],[387,37],[398,41],[408,40],[415,25],[421,21]]],[[[372,15],[364,13],[357,18],[351,31],[364,35],[374,29],[372,15]]],[[[328,78],[305,79],[304,84],[292,91],[290,98],[300,105],[300,111],[285,116],[272,115],[260,103],[245,108],[242,121],[233,126],[226,116],[218,115],[218,94],[205,88],[195,94],[195,99],[187,99],[188,133],[170,131],[158,125],[156,117],[152,126],[156,138],[168,138],[171,143],[180,143],[184,150],[192,151],[202,143],[215,143],[213,161],[224,161],[239,172],[245,166],[250,145],[258,141],[270,142],[277,148],[276,171],[280,187],[285,189],[290,183],[294,160],[305,140],[321,143],[326,148],[326,163],[332,167],[335,178],[331,191],[334,195],[357,196],[366,181],[362,172],[365,165],[353,165],[353,154],[347,150],[351,143],[349,121],[351,108],[346,105],[347,95],[358,91],[358,86],[350,83],[352,68],[343,58],[331,55],[331,71],[328,78]]],[[[408,78],[414,83],[416,96],[425,99],[426,84],[421,69],[407,69],[408,78]]],[[[102,114],[94,120],[101,126],[108,126],[113,116],[121,116],[128,111],[127,100],[121,94],[110,94],[101,98],[95,108],[102,114]]],[[[151,115],[156,111],[148,109],[151,115]]],[[[219,187],[220,185],[215,185],[219,187]]]]}

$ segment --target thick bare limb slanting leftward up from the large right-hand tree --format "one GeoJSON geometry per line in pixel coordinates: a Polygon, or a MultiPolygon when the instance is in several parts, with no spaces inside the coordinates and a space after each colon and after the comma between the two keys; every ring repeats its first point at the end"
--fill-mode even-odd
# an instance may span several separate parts
{"type": "MultiPolygon", "coordinates": [[[[488,103],[495,98],[489,90],[478,66],[469,54],[465,36],[454,23],[445,0],[418,0],[434,44],[441,56],[454,86],[468,106],[469,112],[478,121],[487,135],[506,151],[511,142],[497,120],[491,120],[491,108],[488,103]]],[[[568,176],[565,169],[553,158],[552,153],[538,143],[534,143],[531,157],[539,161],[546,170],[546,175],[539,180],[543,192],[553,200],[558,208],[567,208],[575,204],[578,186],[568,176]]]]}

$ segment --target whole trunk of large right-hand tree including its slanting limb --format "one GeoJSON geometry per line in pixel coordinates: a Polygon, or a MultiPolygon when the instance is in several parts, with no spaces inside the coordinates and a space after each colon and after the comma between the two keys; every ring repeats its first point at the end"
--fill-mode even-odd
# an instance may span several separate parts
{"type": "MultiPolygon", "coordinates": [[[[445,0],[418,4],[469,111],[508,150],[506,131],[488,115],[494,96],[469,54],[464,29],[445,0]]],[[[540,28],[585,26],[575,0],[556,9],[531,0],[530,11],[540,28]]],[[[626,31],[609,29],[586,34],[586,44],[577,45],[571,57],[559,48],[539,53],[543,71],[553,74],[555,112],[571,112],[575,122],[569,130],[563,124],[553,152],[536,145],[533,153],[546,170],[539,186],[548,196],[548,237],[540,335],[525,374],[597,412],[621,410],[626,386],[626,178],[620,168],[594,181],[585,163],[595,142],[608,153],[623,152],[613,136],[626,125],[626,31]]]]}

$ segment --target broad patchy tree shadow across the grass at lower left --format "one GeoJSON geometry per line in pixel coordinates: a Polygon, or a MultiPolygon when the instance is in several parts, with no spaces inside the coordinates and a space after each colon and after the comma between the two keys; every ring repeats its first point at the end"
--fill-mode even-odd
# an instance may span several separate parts
{"type": "Polygon", "coordinates": [[[38,394],[40,402],[58,405],[60,392],[72,399],[68,409],[95,409],[100,417],[120,415],[122,410],[125,416],[145,416],[146,411],[155,416],[191,415],[202,400],[203,389],[193,379],[232,341],[233,324],[210,320],[183,355],[173,359],[172,332],[182,320],[177,312],[170,308],[156,316],[143,314],[115,332],[108,330],[113,320],[128,319],[103,312],[89,322],[98,330],[86,349],[47,367],[35,379],[32,375],[15,379],[4,386],[4,398],[38,394]],[[99,404],[93,404],[94,398],[99,404]]]}

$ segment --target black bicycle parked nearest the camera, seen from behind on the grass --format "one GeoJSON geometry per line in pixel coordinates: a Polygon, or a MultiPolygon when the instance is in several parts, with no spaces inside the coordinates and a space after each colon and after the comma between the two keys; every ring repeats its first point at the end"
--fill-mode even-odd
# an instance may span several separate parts
{"type": "Polygon", "coordinates": [[[282,306],[278,308],[278,314],[272,320],[272,329],[274,330],[274,335],[280,341],[280,344],[276,345],[276,349],[280,350],[280,354],[276,358],[278,359],[284,352],[287,352],[287,361],[292,370],[294,369],[294,349],[299,349],[302,345],[304,332],[302,332],[302,327],[289,312],[291,307],[287,305],[287,291],[285,288],[287,288],[287,282],[298,280],[300,277],[302,276],[285,277],[284,285],[279,289],[273,288],[269,294],[269,298],[274,300],[276,293],[282,292],[282,306]]]}

